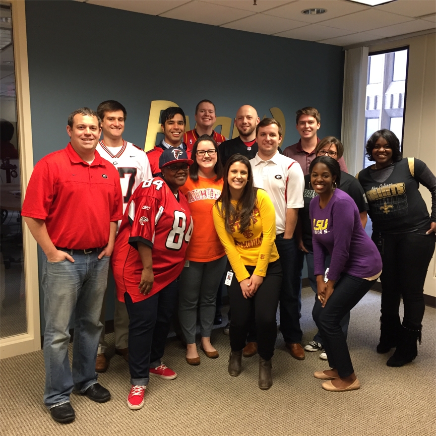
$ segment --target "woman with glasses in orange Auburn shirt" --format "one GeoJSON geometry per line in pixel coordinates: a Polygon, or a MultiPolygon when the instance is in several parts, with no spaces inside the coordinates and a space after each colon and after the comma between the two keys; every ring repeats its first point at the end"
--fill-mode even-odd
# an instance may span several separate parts
{"type": "Polygon", "coordinates": [[[201,348],[210,358],[218,351],[210,343],[215,318],[216,294],[226,265],[224,248],[215,231],[212,207],[221,195],[223,166],[218,146],[208,135],[195,142],[191,154],[194,163],[181,192],[188,199],[194,231],[186,250],[186,264],[180,276],[180,327],[186,339],[186,361],[199,365],[195,342],[197,306],[200,307],[201,348]]]}

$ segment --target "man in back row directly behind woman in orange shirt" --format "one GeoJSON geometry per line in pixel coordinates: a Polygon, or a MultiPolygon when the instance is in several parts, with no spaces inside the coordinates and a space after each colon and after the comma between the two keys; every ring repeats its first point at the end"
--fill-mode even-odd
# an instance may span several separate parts
{"type": "Polygon", "coordinates": [[[197,104],[195,108],[195,120],[197,122],[195,129],[186,132],[183,136],[183,142],[188,147],[186,150],[188,151],[188,156],[190,155],[195,142],[202,135],[209,135],[217,145],[227,141],[225,136],[213,130],[213,125],[216,121],[216,108],[210,100],[202,100],[197,104]]]}

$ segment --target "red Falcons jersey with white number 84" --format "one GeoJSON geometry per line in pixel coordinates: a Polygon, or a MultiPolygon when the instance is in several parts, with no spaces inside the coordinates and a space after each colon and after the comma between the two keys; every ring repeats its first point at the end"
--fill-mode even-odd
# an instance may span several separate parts
{"type": "Polygon", "coordinates": [[[160,177],[146,180],[133,193],[111,258],[119,301],[124,301],[124,292],[133,302],[144,300],[180,275],[193,221],[188,200],[180,192],[178,200],[160,177]],[[138,242],[152,248],[154,283],[148,295],[138,288],[143,270],[138,242]]]}

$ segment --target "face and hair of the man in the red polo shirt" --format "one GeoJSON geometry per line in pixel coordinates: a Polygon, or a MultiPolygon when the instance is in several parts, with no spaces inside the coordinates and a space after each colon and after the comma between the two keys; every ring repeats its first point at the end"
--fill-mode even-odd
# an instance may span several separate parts
{"type": "Polygon", "coordinates": [[[83,159],[94,153],[100,139],[101,128],[98,127],[96,116],[77,113],[73,118],[73,127],[67,126],[71,145],[83,159]]]}

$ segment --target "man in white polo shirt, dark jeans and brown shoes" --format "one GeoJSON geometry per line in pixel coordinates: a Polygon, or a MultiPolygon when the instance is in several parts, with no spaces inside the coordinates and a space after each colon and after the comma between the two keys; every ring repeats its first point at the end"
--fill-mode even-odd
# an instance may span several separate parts
{"type": "Polygon", "coordinates": [[[250,163],[255,186],[269,194],[276,210],[276,246],[283,268],[280,330],[291,356],[303,360],[303,333],[298,309],[299,287],[296,286],[293,264],[297,253],[294,230],[298,209],[304,205],[304,176],[297,161],[279,153],[281,140],[280,122],[273,118],[264,118],[256,127],[259,151],[250,163]]]}

